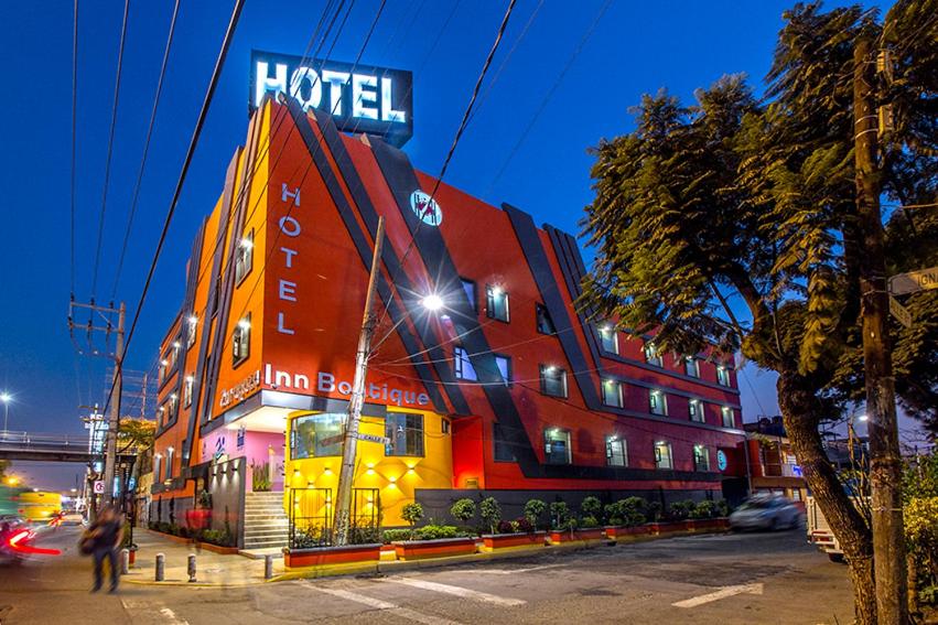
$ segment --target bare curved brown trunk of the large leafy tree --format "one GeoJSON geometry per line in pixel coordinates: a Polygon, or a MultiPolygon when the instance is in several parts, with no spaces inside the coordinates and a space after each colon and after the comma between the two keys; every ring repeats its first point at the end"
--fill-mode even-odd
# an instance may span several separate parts
{"type": "Polygon", "coordinates": [[[785,431],[811,494],[843,549],[853,584],[854,615],[861,625],[876,624],[873,538],[863,516],[847,496],[818,433],[820,414],[815,390],[797,374],[778,378],[778,405],[785,431]]]}

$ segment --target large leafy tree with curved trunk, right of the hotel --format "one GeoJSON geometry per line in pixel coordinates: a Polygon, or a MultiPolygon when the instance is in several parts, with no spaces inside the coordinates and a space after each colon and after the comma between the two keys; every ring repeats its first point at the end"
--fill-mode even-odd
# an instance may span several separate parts
{"type": "MultiPolygon", "coordinates": [[[[935,75],[916,73],[907,43],[912,4],[896,4],[886,30],[906,42],[897,67],[906,91],[928,91],[921,83],[935,75]]],[[[785,19],[764,101],[742,76],[699,91],[692,107],[660,91],[643,98],[634,132],[593,150],[595,198],[583,225],[597,255],[580,305],[635,333],[654,332],[661,349],[715,345],[711,357],[720,358],[741,348],[778,373],[785,427],[843,546],[858,621],[875,623],[870,527],[844,495],[818,428],[851,398],[844,370],[863,379],[853,54],[861,34],[882,30],[859,7],[824,13],[798,4],[785,19]]],[[[934,97],[906,96],[896,97],[907,106],[896,108],[903,121],[894,141],[903,154],[917,151],[905,160],[923,170],[921,160],[934,163],[938,153],[928,143],[935,136],[925,137],[934,97]]],[[[901,160],[884,164],[883,192],[934,197],[934,177],[923,184],[912,165],[905,176],[894,173],[901,160]]]]}

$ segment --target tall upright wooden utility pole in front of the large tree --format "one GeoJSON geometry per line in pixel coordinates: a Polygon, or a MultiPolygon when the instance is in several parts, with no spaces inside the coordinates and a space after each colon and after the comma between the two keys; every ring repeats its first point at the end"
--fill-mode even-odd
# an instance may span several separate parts
{"type": "Polygon", "coordinates": [[[877,622],[908,623],[906,551],[902,513],[902,461],[890,344],[885,233],[880,209],[876,64],[870,35],[853,51],[853,120],[856,213],[862,236],[860,288],[863,364],[870,437],[873,559],[877,622]]]}

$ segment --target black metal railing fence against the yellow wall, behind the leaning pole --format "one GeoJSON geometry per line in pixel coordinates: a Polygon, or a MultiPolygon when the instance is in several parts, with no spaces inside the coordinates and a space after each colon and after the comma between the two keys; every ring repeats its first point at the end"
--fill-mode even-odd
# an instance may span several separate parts
{"type": "MultiPolygon", "coordinates": [[[[331,488],[291,488],[290,549],[331,546],[334,515],[331,488]]],[[[377,542],[380,526],[380,492],[377,488],[353,488],[349,545],[377,542]]]]}

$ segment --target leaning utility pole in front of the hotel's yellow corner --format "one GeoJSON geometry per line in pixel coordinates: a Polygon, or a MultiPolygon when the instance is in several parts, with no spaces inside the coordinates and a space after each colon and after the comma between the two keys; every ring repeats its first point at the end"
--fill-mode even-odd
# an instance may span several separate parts
{"type": "Polygon", "coordinates": [[[355,354],[355,379],[352,399],[348,403],[348,418],[345,421],[345,438],[342,444],[342,467],[338,473],[338,488],[335,497],[336,546],[348,543],[348,524],[352,508],[352,485],[355,481],[355,454],[358,450],[358,423],[362,420],[362,407],[365,403],[365,376],[368,373],[368,357],[371,352],[371,336],[375,333],[375,292],[378,276],[381,272],[381,246],[385,238],[385,218],[378,217],[378,231],[375,234],[375,252],[371,256],[371,272],[368,278],[368,293],[365,297],[365,314],[362,317],[362,333],[358,336],[358,351],[355,354]]]}

